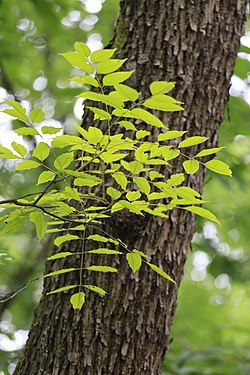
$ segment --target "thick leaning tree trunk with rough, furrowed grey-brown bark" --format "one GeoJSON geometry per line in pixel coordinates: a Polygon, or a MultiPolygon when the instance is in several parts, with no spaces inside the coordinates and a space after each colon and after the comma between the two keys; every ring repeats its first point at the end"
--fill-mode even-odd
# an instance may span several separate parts
{"type": "MultiPolygon", "coordinates": [[[[132,84],[139,91],[153,80],[177,82],[174,97],[184,102],[185,111],[162,119],[170,128],[188,130],[189,136],[208,136],[212,147],[217,145],[245,11],[245,0],[123,0],[111,43],[119,57],[128,57],[127,68],[136,68],[132,84]]],[[[201,170],[188,183],[201,191],[203,181],[201,170]]],[[[115,259],[115,276],[85,275],[86,283],[103,287],[108,295],[89,293],[84,308],[75,312],[68,294],[46,293],[77,283],[78,276],[45,279],[15,375],[161,373],[194,218],[181,210],[167,220],[121,213],[107,225],[132,248],[146,251],[177,285],[146,267],[132,274],[125,261],[115,259]]],[[[71,267],[71,262],[65,258],[60,266],[71,267]]],[[[94,255],[86,262],[95,264],[94,255]]],[[[51,264],[46,272],[59,266],[58,261],[51,264]]]]}

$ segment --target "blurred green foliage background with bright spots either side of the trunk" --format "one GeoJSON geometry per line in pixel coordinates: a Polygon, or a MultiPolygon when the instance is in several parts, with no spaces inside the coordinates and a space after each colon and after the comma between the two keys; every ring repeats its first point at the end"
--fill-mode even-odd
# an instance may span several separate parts
{"type": "MultiPolygon", "coordinates": [[[[82,115],[81,92],[69,81],[76,71],[58,53],[76,40],[92,50],[112,38],[118,0],[0,0],[0,110],[4,98],[26,108],[41,107],[46,122],[56,119],[72,132],[82,115]]],[[[164,374],[250,374],[250,22],[232,78],[230,102],[220,130],[220,158],[233,178],[208,174],[204,197],[221,225],[199,220],[179,292],[179,303],[164,374]]],[[[59,124],[57,123],[57,124],[59,124]]],[[[9,146],[18,124],[0,114],[0,144],[9,146]]],[[[18,141],[23,142],[18,138],[18,141]]],[[[34,171],[13,173],[0,159],[0,198],[34,189],[34,171]]],[[[1,234],[0,297],[39,276],[50,238],[38,243],[24,223],[1,234]]],[[[33,282],[14,299],[0,304],[0,375],[13,372],[41,293],[33,282]]]]}

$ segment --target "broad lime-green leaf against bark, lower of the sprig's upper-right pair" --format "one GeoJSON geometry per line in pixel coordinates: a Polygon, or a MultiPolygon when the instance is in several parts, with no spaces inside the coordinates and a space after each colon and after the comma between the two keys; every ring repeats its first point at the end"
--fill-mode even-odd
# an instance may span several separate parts
{"type": "Polygon", "coordinates": [[[143,105],[150,109],[158,109],[164,112],[182,111],[184,108],[178,105],[180,102],[168,95],[154,95],[145,100],[143,105]]]}

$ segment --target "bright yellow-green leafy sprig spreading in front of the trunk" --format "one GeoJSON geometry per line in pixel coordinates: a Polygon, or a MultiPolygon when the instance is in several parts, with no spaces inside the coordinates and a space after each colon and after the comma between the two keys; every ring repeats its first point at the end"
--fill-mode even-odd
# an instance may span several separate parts
{"type": "Polygon", "coordinates": [[[103,220],[123,210],[167,220],[170,210],[182,209],[218,222],[212,212],[201,207],[204,201],[200,194],[185,186],[185,175],[197,173],[201,165],[222,175],[231,176],[231,170],[219,160],[202,161],[222,147],[203,149],[192,158],[185,155],[184,149],[204,143],[208,138],[186,137],[186,131],[168,130],[152,113],[152,110],[183,110],[182,103],[168,95],[175,83],[152,82],[151,95],[142,99],[141,93],[124,84],[134,70],[118,71],[126,60],[113,58],[115,49],[91,53],[81,42],[76,42],[74,48],[74,52],[62,56],[82,71],[83,75],[72,80],[85,89],[94,88],[94,91],[85,90],[79,97],[87,100],[85,108],[93,113],[96,126],[95,123],[88,128],[77,125],[78,136],[56,135],[61,128],[53,126],[42,126],[39,131],[36,124],[44,119],[41,109],[34,108],[27,114],[20,103],[6,100],[10,108],[3,112],[23,123],[15,132],[24,139],[40,136],[43,140],[34,142],[36,146],[32,152],[17,142],[12,142],[11,148],[0,146],[0,157],[17,160],[16,171],[38,169],[37,185],[42,189],[34,194],[2,200],[0,205],[5,208],[2,211],[3,231],[11,231],[28,218],[34,223],[39,240],[46,233],[57,234],[54,244],[59,250],[48,260],[81,255],[80,263],[75,267],[45,275],[53,277],[78,272],[78,284],[65,285],[49,294],[72,290],[70,302],[74,309],[80,309],[85,302],[86,289],[106,294],[101,286],[85,285],[83,272],[117,272],[114,267],[98,264],[86,267],[84,254],[125,256],[133,272],[144,263],[174,282],[165,271],[150,262],[146,250],[129,249],[121,239],[104,232],[103,220]],[[157,137],[151,132],[154,127],[159,129],[157,137]],[[55,135],[51,145],[44,138],[47,134],[55,135]],[[185,139],[181,140],[183,136],[185,139]],[[175,146],[172,140],[175,140],[175,146]],[[171,163],[178,157],[185,158],[183,171],[171,174],[171,163]],[[92,234],[88,234],[89,228],[92,234]],[[76,240],[81,242],[78,252],[62,251],[63,244],[76,240]],[[97,246],[86,250],[86,241],[97,246]]]}

